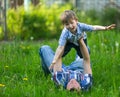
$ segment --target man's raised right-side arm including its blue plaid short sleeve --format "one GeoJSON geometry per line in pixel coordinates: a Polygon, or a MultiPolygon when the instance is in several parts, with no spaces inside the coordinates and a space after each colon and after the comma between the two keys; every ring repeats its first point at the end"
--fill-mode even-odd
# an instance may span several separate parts
{"type": "Polygon", "coordinates": [[[83,38],[79,40],[79,44],[84,62],[84,78],[81,80],[80,86],[82,90],[88,91],[92,87],[92,69],[90,67],[90,56],[83,38]]]}

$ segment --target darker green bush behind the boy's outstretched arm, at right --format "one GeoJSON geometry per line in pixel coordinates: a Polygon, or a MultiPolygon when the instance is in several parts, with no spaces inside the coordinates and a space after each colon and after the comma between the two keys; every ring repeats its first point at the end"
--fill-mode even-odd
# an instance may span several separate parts
{"type": "Polygon", "coordinates": [[[95,9],[87,11],[75,10],[75,12],[80,22],[93,25],[110,25],[115,23],[117,24],[117,28],[120,26],[120,11],[114,7],[106,7],[101,12],[95,9]]]}

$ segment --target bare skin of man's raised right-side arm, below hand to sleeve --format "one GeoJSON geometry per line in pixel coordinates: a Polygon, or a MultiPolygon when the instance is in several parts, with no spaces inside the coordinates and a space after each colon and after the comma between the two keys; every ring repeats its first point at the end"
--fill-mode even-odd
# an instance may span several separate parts
{"type": "Polygon", "coordinates": [[[79,44],[80,44],[80,50],[84,60],[84,74],[92,74],[92,70],[90,67],[90,56],[89,56],[87,47],[83,41],[83,38],[79,40],[79,44]]]}

